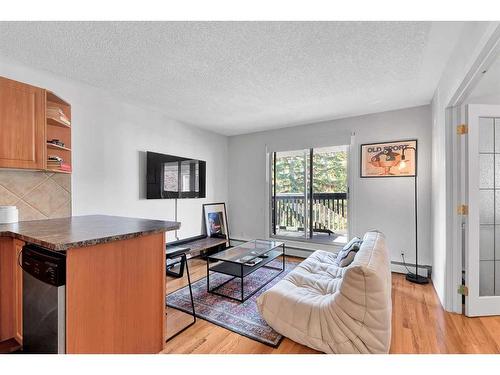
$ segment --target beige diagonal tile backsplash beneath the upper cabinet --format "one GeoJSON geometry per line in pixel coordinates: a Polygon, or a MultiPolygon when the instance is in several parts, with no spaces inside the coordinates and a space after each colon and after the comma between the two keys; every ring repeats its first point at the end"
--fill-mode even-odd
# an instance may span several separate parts
{"type": "Polygon", "coordinates": [[[19,221],[71,216],[71,175],[0,169],[0,205],[17,206],[19,221]]]}

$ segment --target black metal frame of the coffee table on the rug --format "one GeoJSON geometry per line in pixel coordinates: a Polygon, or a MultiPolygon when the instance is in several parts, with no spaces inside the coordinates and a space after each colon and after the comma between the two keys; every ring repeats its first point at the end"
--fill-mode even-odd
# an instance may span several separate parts
{"type": "MultiPolygon", "coordinates": [[[[266,240],[258,240],[258,241],[266,241],[266,240]]],[[[250,241],[252,242],[252,241],[250,241]]],[[[257,263],[253,266],[246,265],[245,263],[240,263],[237,261],[232,261],[232,260],[219,260],[216,258],[213,258],[217,255],[217,253],[208,255],[207,256],[207,292],[232,299],[234,301],[238,302],[245,302],[247,299],[252,297],[255,293],[257,293],[259,290],[261,290],[263,287],[265,287],[267,284],[269,284],[272,280],[274,280],[276,277],[278,277],[283,271],[285,270],[285,244],[283,242],[277,242],[277,245],[267,251],[266,253],[261,254],[262,255],[267,255],[267,258],[263,258],[260,263],[257,263]],[[281,251],[277,250],[278,248],[281,247],[281,251]],[[283,258],[283,264],[281,268],[278,267],[272,267],[268,266],[267,264],[272,262],[273,260],[279,258],[283,258]],[[217,264],[210,266],[210,262],[216,261],[217,264]],[[244,278],[251,275],[255,271],[257,271],[259,268],[268,268],[268,269],[273,269],[280,271],[276,275],[274,275],[272,278],[264,282],[260,287],[258,287],[256,290],[254,290],[252,293],[249,295],[245,296],[245,291],[244,291],[244,278]],[[233,276],[229,280],[224,281],[220,285],[217,285],[214,288],[210,289],[210,272],[215,272],[215,273],[222,273],[224,275],[228,276],[233,276]],[[226,285],[228,282],[239,278],[240,279],[240,284],[241,284],[241,298],[235,298],[232,296],[228,296],[226,294],[219,293],[217,290],[221,288],[222,286],[226,285]]],[[[256,255],[253,259],[259,258],[259,255],[256,255]]]]}

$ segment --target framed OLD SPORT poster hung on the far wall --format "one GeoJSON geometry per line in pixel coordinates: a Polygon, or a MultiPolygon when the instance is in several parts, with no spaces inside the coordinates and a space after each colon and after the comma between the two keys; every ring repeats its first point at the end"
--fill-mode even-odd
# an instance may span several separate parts
{"type": "Polygon", "coordinates": [[[415,177],[417,140],[361,145],[360,177],[415,177]]]}

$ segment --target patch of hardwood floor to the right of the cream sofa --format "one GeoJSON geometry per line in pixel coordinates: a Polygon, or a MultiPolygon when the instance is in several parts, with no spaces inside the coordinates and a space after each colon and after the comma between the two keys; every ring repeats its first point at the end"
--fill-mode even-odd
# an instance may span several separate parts
{"type": "Polygon", "coordinates": [[[500,353],[500,316],[444,311],[431,284],[392,276],[391,353],[500,353]]]}

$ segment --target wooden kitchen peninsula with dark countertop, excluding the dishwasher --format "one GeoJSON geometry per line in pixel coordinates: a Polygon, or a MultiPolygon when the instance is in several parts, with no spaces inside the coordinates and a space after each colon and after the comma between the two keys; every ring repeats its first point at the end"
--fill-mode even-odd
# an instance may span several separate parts
{"type": "Polygon", "coordinates": [[[66,254],[66,353],[158,353],[165,232],[180,223],[105,215],[0,225],[0,342],[22,342],[24,244],[66,254]]]}

